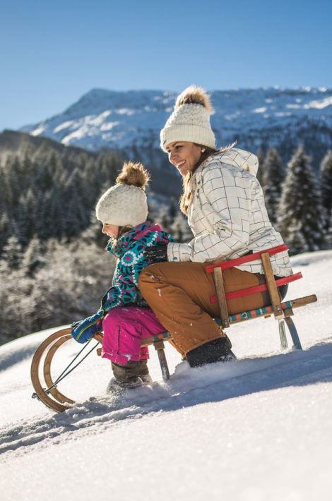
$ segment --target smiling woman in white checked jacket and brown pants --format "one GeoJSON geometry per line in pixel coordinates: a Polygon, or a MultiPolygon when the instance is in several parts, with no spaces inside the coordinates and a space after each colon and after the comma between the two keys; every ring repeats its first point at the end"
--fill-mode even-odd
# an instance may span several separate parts
{"type": "MultiPolygon", "coordinates": [[[[221,262],[279,246],[283,239],[271,226],[256,179],[255,155],[235,148],[215,150],[209,97],[188,87],[177,98],[160,132],[160,146],[182,174],[182,212],[194,239],[146,250],[150,262],[138,285],[150,308],[172,334],[174,346],[190,366],[232,358],[230,339],[214,322],[218,304],[206,262],[221,262]]],[[[287,252],[271,257],[275,276],[292,273],[287,252]]],[[[260,260],[223,272],[225,291],[265,282],[260,260]]],[[[285,293],[285,291],[283,291],[285,293]]],[[[284,294],[283,294],[284,295],[284,294]]],[[[230,314],[269,303],[266,293],[227,301],[230,314]]]]}

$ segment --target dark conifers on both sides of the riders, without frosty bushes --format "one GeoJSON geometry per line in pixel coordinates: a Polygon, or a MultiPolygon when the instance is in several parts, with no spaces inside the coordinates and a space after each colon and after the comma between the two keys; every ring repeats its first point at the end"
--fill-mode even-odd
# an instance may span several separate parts
{"type": "MultiPolygon", "coordinates": [[[[47,142],[32,147],[23,141],[18,151],[1,152],[0,256],[11,260],[13,249],[23,254],[36,241],[70,241],[89,227],[101,241],[95,203],[114,183],[122,162],[112,152],[57,152],[47,142]]],[[[286,168],[275,147],[266,155],[260,150],[258,178],[271,222],[292,254],[331,248],[332,150],[321,161],[318,179],[303,145],[286,168]]],[[[187,241],[190,232],[177,201],[167,200],[150,205],[149,217],[187,241]]]]}

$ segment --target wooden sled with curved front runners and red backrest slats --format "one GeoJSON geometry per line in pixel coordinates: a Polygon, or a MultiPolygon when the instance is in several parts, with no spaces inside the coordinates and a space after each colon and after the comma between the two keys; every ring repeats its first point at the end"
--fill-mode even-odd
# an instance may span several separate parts
{"type": "MultiPolygon", "coordinates": [[[[305,296],[290,301],[280,302],[278,286],[289,284],[290,282],[294,282],[295,280],[302,278],[302,274],[299,272],[292,274],[289,277],[275,280],[275,277],[273,276],[270,256],[283,252],[285,250],[287,250],[287,246],[282,245],[253,253],[251,255],[245,255],[242,258],[225,261],[217,265],[207,266],[206,272],[213,273],[215,280],[215,289],[217,296],[212,296],[211,301],[218,301],[218,305],[220,307],[220,318],[215,319],[215,321],[218,322],[219,325],[222,325],[225,329],[235,323],[252,320],[259,317],[267,318],[273,315],[275,320],[278,320],[280,342],[283,349],[286,349],[288,346],[285,325],[287,325],[287,328],[290,331],[290,336],[295,348],[302,349],[300,337],[291,318],[293,315],[293,309],[305,306],[309,303],[314,303],[315,301],[317,301],[317,298],[315,294],[312,294],[311,296],[305,296]],[[266,284],[261,284],[249,289],[242,289],[240,291],[225,294],[225,289],[223,286],[223,270],[228,267],[237,266],[244,262],[249,262],[257,259],[261,259],[266,277],[266,284]],[[243,311],[235,315],[228,315],[227,299],[229,300],[235,297],[256,294],[257,292],[261,291],[268,291],[268,294],[271,298],[270,306],[265,306],[256,310],[254,309],[243,311]]],[[[158,353],[160,368],[162,370],[162,378],[165,381],[170,378],[170,373],[168,370],[164,351],[164,342],[169,341],[170,339],[172,339],[172,337],[169,332],[161,332],[160,334],[157,334],[155,336],[144,338],[141,341],[141,346],[149,346],[151,344],[155,346],[155,349],[158,353]]],[[[45,339],[45,341],[42,342],[42,344],[40,344],[40,346],[37,348],[37,351],[32,358],[31,365],[31,380],[32,385],[35,388],[35,393],[32,394],[32,397],[40,399],[50,409],[53,409],[57,412],[65,411],[66,409],[69,409],[72,404],[75,404],[75,402],[71,398],[66,397],[58,390],[57,386],[59,385],[59,382],[61,382],[61,380],[66,377],[66,375],[69,375],[69,373],[71,373],[71,371],[76,368],[92,351],[95,351],[95,349],[97,349],[97,354],[100,355],[101,349],[97,348],[97,346],[102,343],[102,332],[97,332],[93,339],[84,344],[81,351],[79,351],[79,353],[75,356],[75,358],[73,358],[71,363],[69,363],[69,366],[67,366],[60,373],[56,380],[53,380],[52,361],[54,359],[54,354],[56,354],[60,346],[62,346],[66,342],[72,342],[72,344],[76,344],[76,342],[74,342],[73,338],[71,337],[71,329],[62,329],[54,332],[54,334],[51,334],[49,337],[47,337],[47,339],[45,339]],[[97,342],[92,349],[90,348],[91,342],[97,342]],[[85,350],[87,350],[87,353],[83,354],[83,351],[85,350]]]]}

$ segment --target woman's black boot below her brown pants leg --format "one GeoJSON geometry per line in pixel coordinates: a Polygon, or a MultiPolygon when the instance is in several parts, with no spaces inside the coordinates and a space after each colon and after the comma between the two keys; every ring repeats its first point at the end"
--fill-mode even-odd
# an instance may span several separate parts
{"type": "Polygon", "coordinates": [[[186,361],[191,367],[203,366],[206,363],[227,362],[235,360],[231,351],[232,343],[227,336],[218,337],[207,343],[197,346],[186,354],[186,361]]]}

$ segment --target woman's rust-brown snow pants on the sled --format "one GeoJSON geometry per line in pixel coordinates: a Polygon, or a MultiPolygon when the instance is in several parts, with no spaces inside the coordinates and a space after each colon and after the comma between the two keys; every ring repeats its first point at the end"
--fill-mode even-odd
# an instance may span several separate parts
{"type": "MultiPolygon", "coordinates": [[[[216,261],[217,262],[217,261],[216,261]]],[[[220,262],[220,261],[219,261],[220,262]]],[[[211,262],[208,263],[212,264],[211,262]]],[[[223,334],[213,318],[220,316],[213,274],[204,262],[161,262],[141,272],[138,285],[150,308],[172,334],[174,347],[182,356],[223,334]]],[[[223,270],[225,291],[246,289],[265,282],[263,275],[228,268],[223,270]]],[[[268,306],[266,292],[227,301],[230,315],[268,306]]]]}

